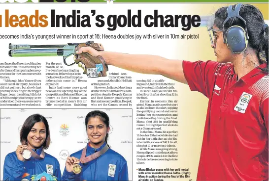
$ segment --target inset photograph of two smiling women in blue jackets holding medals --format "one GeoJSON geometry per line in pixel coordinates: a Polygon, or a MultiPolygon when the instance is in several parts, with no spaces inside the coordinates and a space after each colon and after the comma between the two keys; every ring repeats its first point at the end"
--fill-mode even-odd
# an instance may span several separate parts
{"type": "Polygon", "coordinates": [[[3,181],[131,181],[132,109],[0,109],[3,181]]]}

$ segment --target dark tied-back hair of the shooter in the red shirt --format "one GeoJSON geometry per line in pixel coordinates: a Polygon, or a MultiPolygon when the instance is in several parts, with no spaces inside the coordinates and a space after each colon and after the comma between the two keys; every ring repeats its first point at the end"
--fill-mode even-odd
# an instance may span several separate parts
{"type": "MultiPolygon", "coordinates": [[[[235,5],[233,5],[233,9],[235,5]]],[[[259,63],[267,63],[267,67],[262,69],[268,72],[268,26],[264,29],[265,21],[261,11],[250,4],[242,4],[239,11],[239,15],[246,21],[245,23],[237,17],[230,18],[224,26],[224,30],[227,30],[231,26],[241,26],[244,29],[247,28],[248,32],[248,47],[255,50],[259,59],[259,63]]],[[[223,29],[223,22],[227,18],[227,7],[222,7],[215,13],[214,25],[219,29],[223,29]]]]}

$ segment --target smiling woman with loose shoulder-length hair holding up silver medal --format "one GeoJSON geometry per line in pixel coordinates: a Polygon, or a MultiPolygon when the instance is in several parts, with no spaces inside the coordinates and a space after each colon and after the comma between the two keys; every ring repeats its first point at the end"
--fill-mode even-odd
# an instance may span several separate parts
{"type": "Polygon", "coordinates": [[[50,145],[49,125],[39,114],[29,116],[24,122],[19,145],[15,152],[5,157],[4,181],[61,181],[58,160],[44,152],[50,145]]]}

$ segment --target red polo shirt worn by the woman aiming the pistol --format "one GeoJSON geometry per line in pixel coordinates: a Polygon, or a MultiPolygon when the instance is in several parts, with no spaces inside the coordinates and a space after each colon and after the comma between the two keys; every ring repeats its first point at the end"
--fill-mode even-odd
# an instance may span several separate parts
{"type": "Polygon", "coordinates": [[[183,71],[209,99],[197,180],[268,181],[268,73],[236,81],[233,64],[214,61],[183,61],[183,71]]]}

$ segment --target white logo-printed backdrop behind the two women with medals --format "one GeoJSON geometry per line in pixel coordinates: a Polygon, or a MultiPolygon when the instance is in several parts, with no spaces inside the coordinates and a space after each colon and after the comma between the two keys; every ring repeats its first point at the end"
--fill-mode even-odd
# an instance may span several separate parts
{"type": "Polygon", "coordinates": [[[67,156],[88,143],[85,116],[92,110],[101,110],[109,116],[108,144],[127,160],[129,180],[132,180],[132,109],[1,109],[0,180],[5,156],[21,145],[20,130],[27,117],[38,113],[47,119],[51,144],[45,152],[58,159],[63,174],[67,156]],[[66,129],[61,129],[64,124],[66,129]]]}

